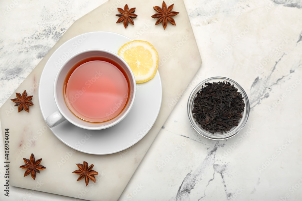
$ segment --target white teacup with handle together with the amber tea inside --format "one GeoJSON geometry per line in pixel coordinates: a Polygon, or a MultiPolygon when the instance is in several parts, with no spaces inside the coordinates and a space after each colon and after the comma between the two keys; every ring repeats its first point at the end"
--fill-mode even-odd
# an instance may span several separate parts
{"type": "Polygon", "coordinates": [[[87,49],[68,58],[56,75],[53,95],[58,111],[45,122],[55,127],[65,120],[77,127],[101,130],[130,112],[136,81],[127,62],[104,49],[87,49]]]}

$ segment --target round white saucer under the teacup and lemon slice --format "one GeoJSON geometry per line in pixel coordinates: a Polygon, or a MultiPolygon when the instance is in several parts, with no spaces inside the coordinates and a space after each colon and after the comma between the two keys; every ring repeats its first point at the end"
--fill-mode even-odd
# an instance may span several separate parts
{"type": "MultiPolygon", "coordinates": [[[[47,61],[40,78],[39,104],[44,120],[57,111],[53,85],[59,67],[71,55],[85,49],[106,49],[117,53],[130,38],[112,32],[90,32],[76,36],[60,46],[47,61]]],[[[111,154],[127,149],[141,140],[153,126],[162,102],[159,73],[146,83],[137,84],[130,113],[117,125],[104,130],[85,130],[64,121],[50,128],[66,145],[89,154],[111,154]]]]}

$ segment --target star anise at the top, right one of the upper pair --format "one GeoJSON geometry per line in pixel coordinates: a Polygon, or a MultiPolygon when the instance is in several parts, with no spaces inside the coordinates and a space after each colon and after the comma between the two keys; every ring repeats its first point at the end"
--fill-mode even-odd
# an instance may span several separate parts
{"type": "Polygon", "coordinates": [[[174,4],[170,5],[167,8],[167,5],[166,5],[165,1],[163,1],[162,2],[162,8],[160,8],[159,6],[154,6],[153,7],[153,9],[156,12],[158,12],[158,13],[151,16],[153,18],[158,18],[155,25],[162,22],[162,26],[164,27],[164,29],[167,27],[168,21],[171,24],[176,25],[174,19],[172,18],[172,16],[177,15],[179,12],[172,11],[173,5],[174,4]]]}

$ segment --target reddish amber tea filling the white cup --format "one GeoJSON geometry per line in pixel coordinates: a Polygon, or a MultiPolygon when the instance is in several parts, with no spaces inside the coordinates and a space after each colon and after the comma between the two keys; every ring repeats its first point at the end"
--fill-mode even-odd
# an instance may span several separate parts
{"type": "Polygon", "coordinates": [[[68,72],[64,99],[77,117],[90,122],[108,121],[129,102],[129,83],[124,69],[112,59],[85,58],[68,72]]]}

